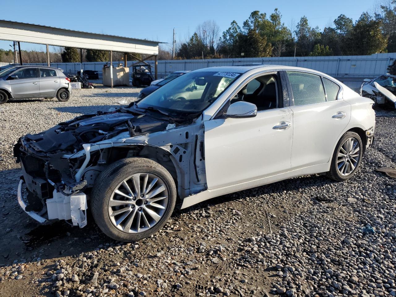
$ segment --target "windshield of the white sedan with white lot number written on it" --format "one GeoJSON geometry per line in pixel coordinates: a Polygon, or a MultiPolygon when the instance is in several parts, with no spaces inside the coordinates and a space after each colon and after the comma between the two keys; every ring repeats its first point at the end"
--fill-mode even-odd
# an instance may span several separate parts
{"type": "Polygon", "coordinates": [[[193,71],[171,80],[136,104],[166,112],[195,114],[206,109],[240,76],[234,72],[193,71]]]}

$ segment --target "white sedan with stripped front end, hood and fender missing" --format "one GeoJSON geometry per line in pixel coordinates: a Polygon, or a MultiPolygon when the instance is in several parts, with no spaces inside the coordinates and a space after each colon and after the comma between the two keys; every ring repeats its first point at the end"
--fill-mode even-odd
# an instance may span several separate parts
{"type": "Polygon", "coordinates": [[[18,201],[41,223],[136,241],[175,208],[300,175],[345,181],[373,142],[373,101],[314,70],[188,72],[112,112],[79,116],[14,147],[18,201]]]}

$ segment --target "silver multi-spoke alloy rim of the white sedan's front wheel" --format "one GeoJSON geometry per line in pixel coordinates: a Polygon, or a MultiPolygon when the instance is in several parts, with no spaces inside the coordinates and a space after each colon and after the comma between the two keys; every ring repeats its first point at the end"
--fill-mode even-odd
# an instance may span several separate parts
{"type": "Polygon", "coordinates": [[[152,173],[135,173],[113,190],[108,204],[110,221],[127,233],[144,232],[164,215],[168,198],[162,179],[152,173]]]}

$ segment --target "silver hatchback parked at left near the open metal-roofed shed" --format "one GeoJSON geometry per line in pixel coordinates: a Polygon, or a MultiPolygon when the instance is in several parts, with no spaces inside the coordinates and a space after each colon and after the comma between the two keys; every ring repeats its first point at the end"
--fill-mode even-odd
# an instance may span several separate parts
{"type": "Polygon", "coordinates": [[[8,99],[53,98],[68,101],[69,78],[62,70],[45,66],[15,66],[0,71],[0,104],[8,99]]]}

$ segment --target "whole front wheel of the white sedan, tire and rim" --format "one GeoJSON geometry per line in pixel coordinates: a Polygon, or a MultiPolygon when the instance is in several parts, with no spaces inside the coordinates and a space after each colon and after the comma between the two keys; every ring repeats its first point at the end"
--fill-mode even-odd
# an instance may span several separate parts
{"type": "Polygon", "coordinates": [[[134,242],[164,227],[175,203],[175,182],[163,166],[146,158],[126,158],[99,175],[91,210],[107,236],[134,242]]]}

